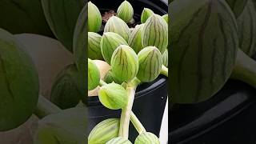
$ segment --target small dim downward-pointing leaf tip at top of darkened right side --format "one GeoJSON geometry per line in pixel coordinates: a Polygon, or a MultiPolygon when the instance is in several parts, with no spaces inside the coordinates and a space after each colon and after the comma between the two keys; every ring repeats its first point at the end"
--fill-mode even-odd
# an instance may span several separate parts
{"type": "Polygon", "coordinates": [[[239,15],[244,10],[247,1],[248,0],[226,0],[226,2],[229,4],[231,10],[233,10],[234,16],[236,18],[238,18],[239,15]]]}

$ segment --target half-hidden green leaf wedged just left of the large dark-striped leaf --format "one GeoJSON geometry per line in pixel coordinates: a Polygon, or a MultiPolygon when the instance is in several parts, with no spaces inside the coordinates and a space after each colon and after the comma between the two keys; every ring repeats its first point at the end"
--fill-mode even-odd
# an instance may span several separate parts
{"type": "Polygon", "coordinates": [[[142,46],[142,29],[144,24],[135,26],[134,30],[130,34],[128,44],[138,54],[143,49],[142,46]]]}

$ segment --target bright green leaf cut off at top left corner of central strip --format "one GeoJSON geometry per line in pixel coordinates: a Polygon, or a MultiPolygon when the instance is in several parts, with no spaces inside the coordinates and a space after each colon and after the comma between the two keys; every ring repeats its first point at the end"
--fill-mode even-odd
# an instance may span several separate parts
{"type": "Polygon", "coordinates": [[[97,33],[102,26],[102,14],[98,7],[88,2],[88,31],[97,33]]]}

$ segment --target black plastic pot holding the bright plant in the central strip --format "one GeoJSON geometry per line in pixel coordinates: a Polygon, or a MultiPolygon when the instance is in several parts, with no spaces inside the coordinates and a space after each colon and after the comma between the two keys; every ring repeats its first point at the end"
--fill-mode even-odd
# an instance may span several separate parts
{"type": "MultiPolygon", "coordinates": [[[[102,13],[108,10],[117,10],[122,1],[120,0],[93,0],[102,13]]],[[[167,14],[168,6],[165,2],[159,0],[134,0],[130,1],[134,7],[134,20],[140,22],[140,15],[144,7],[154,10],[156,14],[167,14]]],[[[104,26],[104,24],[103,24],[104,26]]],[[[102,28],[103,28],[102,26],[102,28]]],[[[154,82],[144,83],[138,86],[134,98],[133,111],[138,119],[145,126],[147,131],[159,135],[162,123],[162,115],[166,106],[167,99],[167,79],[159,76],[154,82]]],[[[109,110],[102,106],[98,97],[88,98],[89,104],[89,131],[94,128],[98,122],[106,118],[120,118],[121,110],[109,110]]],[[[134,126],[130,123],[130,141],[138,136],[134,126]]]]}

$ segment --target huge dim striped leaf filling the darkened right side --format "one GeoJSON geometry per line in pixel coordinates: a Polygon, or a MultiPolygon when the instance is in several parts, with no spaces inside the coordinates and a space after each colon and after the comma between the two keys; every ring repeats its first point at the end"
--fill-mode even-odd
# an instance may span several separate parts
{"type": "Polygon", "coordinates": [[[170,14],[172,101],[205,101],[222,88],[233,70],[238,51],[234,14],[222,0],[174,1],[170,14]]]}

